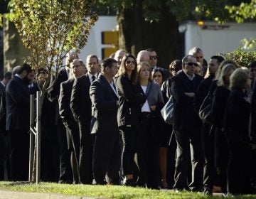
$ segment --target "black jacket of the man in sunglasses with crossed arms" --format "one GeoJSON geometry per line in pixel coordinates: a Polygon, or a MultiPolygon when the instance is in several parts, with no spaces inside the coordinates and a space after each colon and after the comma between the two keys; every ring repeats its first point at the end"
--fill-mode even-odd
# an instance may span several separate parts
{"type": "Polygon", "coordinates": [[[189,80],[185,72],[180,72],[171,79],[171,93],[174,96],[174,129],[198,128],[201,120],[196,111],[194,97],[188,97],[185,92],[196,93],[197,87],[203,77],[195,74],[193,80],[189,80]]]}

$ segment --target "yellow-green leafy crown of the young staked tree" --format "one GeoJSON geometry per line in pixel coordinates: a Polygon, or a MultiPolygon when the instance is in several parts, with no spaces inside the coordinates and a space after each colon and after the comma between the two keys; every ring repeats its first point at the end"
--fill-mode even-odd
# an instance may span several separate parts
{"type": "Polygon", "coordinates": [[[85,46],[90,28],[97,21],[94,0],[11,0],[9,19],[31,50],[28,62],[38,70],[62,65],[70,49],[85,46]]]}

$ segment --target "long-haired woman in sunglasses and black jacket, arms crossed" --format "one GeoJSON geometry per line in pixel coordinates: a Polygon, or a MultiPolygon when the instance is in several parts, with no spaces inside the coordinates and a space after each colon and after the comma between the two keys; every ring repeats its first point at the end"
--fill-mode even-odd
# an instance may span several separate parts
{"type": "Polygon", "coordinates": [[[119,105],[118,127],[122,134],[122,174],[124,184],[134,186],[134,154],[137,140],[141,106],[146,101],[142,87],[137,81],[137,62],[132,54],[125,54],[116,75],[119,105]]]}

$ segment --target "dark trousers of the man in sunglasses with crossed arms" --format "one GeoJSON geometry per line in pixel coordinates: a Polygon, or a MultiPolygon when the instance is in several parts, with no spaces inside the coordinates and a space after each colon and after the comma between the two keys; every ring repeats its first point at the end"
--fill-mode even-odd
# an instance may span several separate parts
{"type": "Polygon", "coordinates": [[[189,156],[192,162],[191,190],[201,190],[203,186],[203,150],[201,144],[200,129],[175,130],[177,151],[176,170],[174,174],[174,188],[183,189],[188,187],[189,156]],[[191,154],[189,147],[191,145],[191,154]]]}

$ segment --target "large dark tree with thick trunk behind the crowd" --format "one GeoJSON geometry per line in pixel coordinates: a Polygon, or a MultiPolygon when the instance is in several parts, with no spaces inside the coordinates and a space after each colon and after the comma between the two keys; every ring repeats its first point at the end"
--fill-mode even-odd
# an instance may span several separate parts
{"type": "MultiPolygon", "coordinates": [[[[252,0],[255,1],[255,0],[252,0]]],[[[117,14],[119,48],[136,55],[139,50],[154,48],[162,67],[181,58],[183,37],[179,22],[190,20],[230,21],[228,6],[239,6],[250,0],[98,0],[117,14]]]]}

